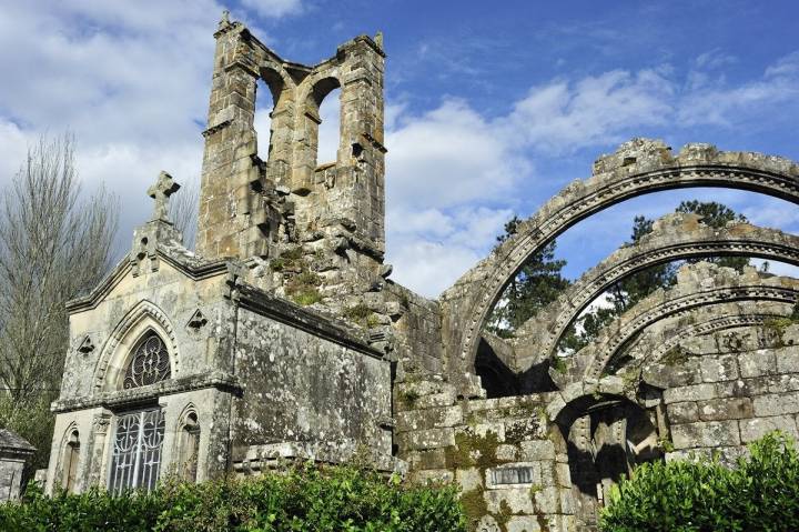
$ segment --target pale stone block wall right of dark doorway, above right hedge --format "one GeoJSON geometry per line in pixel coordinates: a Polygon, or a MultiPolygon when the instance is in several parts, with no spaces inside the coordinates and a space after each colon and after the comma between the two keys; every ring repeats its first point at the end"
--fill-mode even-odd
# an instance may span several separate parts
{"type": "Polygon", "coordinates": [[[675,382],[664,392],[674,452],[734,459],[763,434],[797,438],[799,324],[721,331],[680,342],[671,364],[675,382]]]}

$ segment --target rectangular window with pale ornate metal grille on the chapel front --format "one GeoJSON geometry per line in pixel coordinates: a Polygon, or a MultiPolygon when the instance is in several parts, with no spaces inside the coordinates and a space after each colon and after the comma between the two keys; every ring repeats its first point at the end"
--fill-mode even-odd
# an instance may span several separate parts
{"type": "Polygon", "coordinates": [[[161,465],[164,419],[161,410],[144,410],[117,418],[109,491],[155,488],[161,465]]]}

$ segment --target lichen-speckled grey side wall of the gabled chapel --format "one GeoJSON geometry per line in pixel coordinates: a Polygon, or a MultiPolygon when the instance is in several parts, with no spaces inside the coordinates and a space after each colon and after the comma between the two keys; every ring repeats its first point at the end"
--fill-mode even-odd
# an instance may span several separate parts
{"type": "MultiPolygon", "coordinates": [[[[343,345],[247,309],[239,311],[234,462],[296,442],[307,458],[335,461],[366,449],[392,454],[391,368],[365,345],[343,345]]],[[[292,451],[294,452],[294,451],[292,451]]]]}

